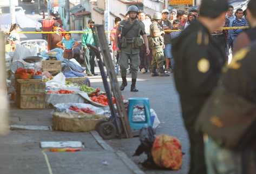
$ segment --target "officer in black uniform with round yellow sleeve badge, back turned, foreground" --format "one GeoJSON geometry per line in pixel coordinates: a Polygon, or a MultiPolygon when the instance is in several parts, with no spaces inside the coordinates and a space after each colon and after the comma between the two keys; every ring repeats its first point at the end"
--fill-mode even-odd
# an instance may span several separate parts
{"type": "Polygon", "coordinates": [[[189,174],[207,173],[203,136],[195,131],[195,122],[225,64],[225,52],[213,41],[211,32],[225,22],[227,9],[226,0],[202,0],[200,17],[182,32],[172,48],[175,85],[191,143],[189,174]]]}

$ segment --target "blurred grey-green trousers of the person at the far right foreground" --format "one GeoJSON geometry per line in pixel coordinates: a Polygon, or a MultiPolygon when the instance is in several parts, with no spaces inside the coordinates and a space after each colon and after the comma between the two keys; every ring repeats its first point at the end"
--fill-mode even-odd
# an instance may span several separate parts
{"type": "Polygon", "coordinates": [[[208,174],[256,173],[255,150],[236,152],[222,148],[211,137],[205,137],[204,141],[208,174]]]}

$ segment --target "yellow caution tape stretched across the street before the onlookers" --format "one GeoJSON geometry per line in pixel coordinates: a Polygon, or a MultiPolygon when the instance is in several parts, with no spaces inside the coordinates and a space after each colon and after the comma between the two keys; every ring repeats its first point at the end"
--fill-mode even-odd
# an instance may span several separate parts
{"type": "MultiPolygon", "coordinates": [[[[232,26],[232,27],[221,27],[218,30],[236,30],[236,29],[248,29],[249,26],[232,26]]],[[[165,32],[182,31],[182,30],[165,30],[165,32]]],[[[111,33],[113,31],[105,31],[105,33],[111,33]]],[[[18,31],[19,34],[84,34],[88,31],[18,31]]],[[[9,32],[6,32],[9,34],[9,32]]]]}

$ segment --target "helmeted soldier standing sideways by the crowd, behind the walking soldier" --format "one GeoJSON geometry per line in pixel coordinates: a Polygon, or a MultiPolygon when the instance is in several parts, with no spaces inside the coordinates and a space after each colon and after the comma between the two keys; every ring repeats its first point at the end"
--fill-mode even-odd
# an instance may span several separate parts
{"type": "Polygon", "coordinates": [[[165,55],[163,53],[163,48],[165,46],[163,42],[163,36],[165,32],[162,30],[160,26],[162,15],[160,12],[155,12],[153,16],[153,23],[150,25],[150,38],[149,45],[152,48],[152,77],[161,76],[166,77],[169,76],[165,73],[163,69],[163,65],[165,65],[165,55]],[[159,69],[159,73],[156,72],[156,67],[159,69]]]}

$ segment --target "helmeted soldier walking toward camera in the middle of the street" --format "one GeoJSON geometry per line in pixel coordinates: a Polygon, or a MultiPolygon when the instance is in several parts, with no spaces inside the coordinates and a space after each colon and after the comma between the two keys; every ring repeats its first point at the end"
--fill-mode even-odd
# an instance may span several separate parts
{"type": "Polygon", "coordinates": [[[123,91],[127,86],[126,73],[129,67],[128,61],[130,60],[130,72],[132,73],[132,85],[130,91],[137,92],[136,79],[137,71],[140,65],[140,47],[143,41],[146,45],[146,53],[149,55],[148,39],[145,32],[145,26],[137,19],[139,9],[135,5],[128,8],[129,18],[120,22],[115,35],[116,51],[121,51],[119,64],[121,68],[122,84],[120,90],[123,91]],[[121,39],[119,36],[121,35],[121,39]],[[142,36],[143,40],[141,39],[142,36]]]}

